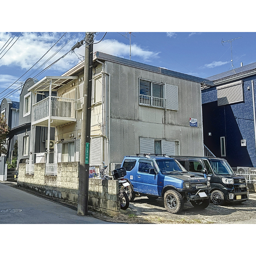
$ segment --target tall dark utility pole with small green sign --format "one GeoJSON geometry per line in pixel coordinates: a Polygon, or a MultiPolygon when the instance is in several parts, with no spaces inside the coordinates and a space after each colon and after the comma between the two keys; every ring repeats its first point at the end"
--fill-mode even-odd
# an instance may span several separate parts
{"type": "Polygon", "coordinates": [[[88,215],[89,152],[92,106],[92,54],[95,32],[86,32],[84,56],[84,104],[82,111],[82,134],[80,146],[80,170],[78,185],[77,214],[88,215]]]}

